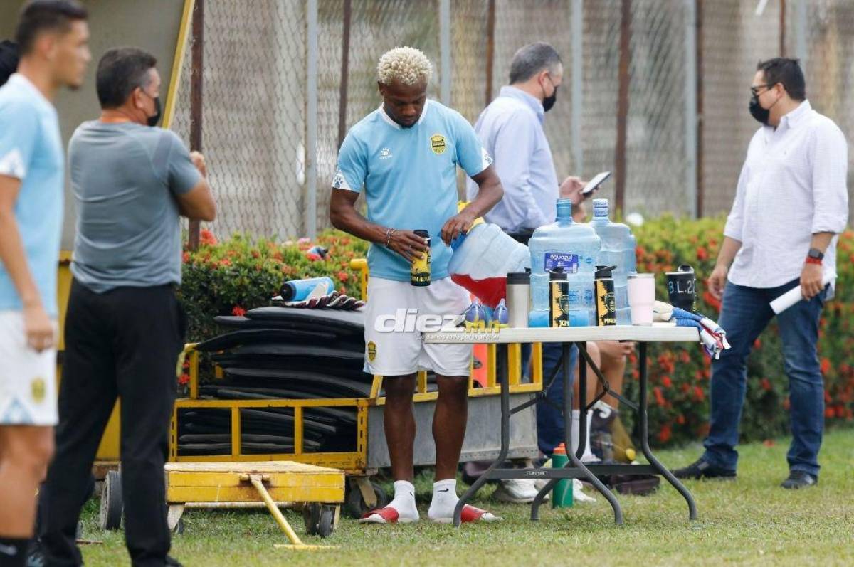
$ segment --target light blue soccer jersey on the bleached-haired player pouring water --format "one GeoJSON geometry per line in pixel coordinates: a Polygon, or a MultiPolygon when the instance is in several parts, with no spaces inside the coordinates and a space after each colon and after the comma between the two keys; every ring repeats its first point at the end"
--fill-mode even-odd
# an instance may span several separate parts
{"type": "MultiPolygon", "coordinates": [[[[447,278],[451,250],[440,231],[457,213],[457,166],[472,177],[490,163],[471,124],[455,110],[427,101],[418,122],[404,128],[380,106],[348,132],[332,186],[364,190],[373,223],[429,231],[431,277],[447,278]]],[[[407,260],[382,245],[371,244],[368,268],[376,278],[410,278],[407,260]]]]}

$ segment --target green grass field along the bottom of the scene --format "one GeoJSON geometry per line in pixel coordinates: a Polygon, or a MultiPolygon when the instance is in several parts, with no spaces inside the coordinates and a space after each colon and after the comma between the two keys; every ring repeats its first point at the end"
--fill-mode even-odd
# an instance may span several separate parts
{"type": "MultiPolygon", "coordinates": [[[[735,482],[688,482],[699,520],[687,521],[687,506],[669,485],[647,497],[620,496],[625,525],[613,523],[601,497],[592,505],[566,511],[544,506],[542,519],[528,519],[529,506],[490,501],[484,488],[477,506],[506,518],[502,523],[462,529],[425,521],[409,525],[362,526],[342,519],[327,540],[305,536],[307,543],[336,546],[319,552],[274,549],[286,543],[266,511],[188,511],[183,535],[173,538],[173,556],[185,565],[852,565],[854,552],[854,430],[825,436],[821,484],[787,491],[788,440],[771,447],[741,447],[735,482]]],[[[685,465],[699,447],[662,451],[671,467],[685,465]]],[[[422,517],[430,500],[430,481],[418,478],[422,517]]],[[[589,491],[588,491],[589,492],[589,491]]],[[[122,535],[97,528],[96,503],[85,514],[85,538],[103,545],[84,548],[87,565],[127,564],[122,535]]],[[[304,533],[301,517],[288,512],[304,533]]]]}

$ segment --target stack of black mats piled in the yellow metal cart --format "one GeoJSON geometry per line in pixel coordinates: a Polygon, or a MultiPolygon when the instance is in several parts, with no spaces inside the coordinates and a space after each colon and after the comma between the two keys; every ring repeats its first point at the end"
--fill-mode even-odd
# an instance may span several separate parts
{"type": "MultiPolygon", "coordinates": [[[[203,400],[365,398],[372,377],[362,371],[365,315],[361,312],[261,307],[245,317],[218,317],[226,332],[198,349],[225,374],[202,384],[203,400]]],[[[241,452],[292,453],[294,411],[258,407],[241,413],[241,452]]],[[[356,410],[309,407],[303,412],[306,453],[354,451],[356,410]]],[[[182,409],[178,454],[231,453],[231,410],[182,409]]]]}

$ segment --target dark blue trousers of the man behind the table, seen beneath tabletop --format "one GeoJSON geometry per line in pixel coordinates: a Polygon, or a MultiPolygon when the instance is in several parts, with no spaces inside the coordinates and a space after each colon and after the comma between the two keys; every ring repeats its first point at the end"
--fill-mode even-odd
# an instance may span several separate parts
{"type": "MultiPolygon", "coordinates": [[[[563,357],[562,344],[559,342],[544,342],[542,345],[542,379],[548,380],[554,369],[560,365],[563,357]]],[[[570,354],[570,385],[575,382],[575,369],[578,361],[578,347],[572,345],[570,354]]],[[[545,384],[544,384],[545,386],[545,384]]],[[[552,387],[547,390],[546,397],[558,407],[564,407],[564,376],[563,371],[558,371],[552,387]]],[[[540,401],[536,405],[536,436],[537,445],[544,454],[552,454],[554,447],[558,447],[564,439],[564,412],[540,401]]]]}

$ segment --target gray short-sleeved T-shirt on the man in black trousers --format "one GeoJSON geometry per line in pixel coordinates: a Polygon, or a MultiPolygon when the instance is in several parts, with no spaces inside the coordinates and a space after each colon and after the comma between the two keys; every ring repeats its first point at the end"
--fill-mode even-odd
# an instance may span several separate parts
{"type": "Polygon", "coordinates": [[[181,283],[177,196],[201,174],[181,139],[130,122],[84,122],[68,144],[77,234],[71,271],[96,293],[181,283]]]}

